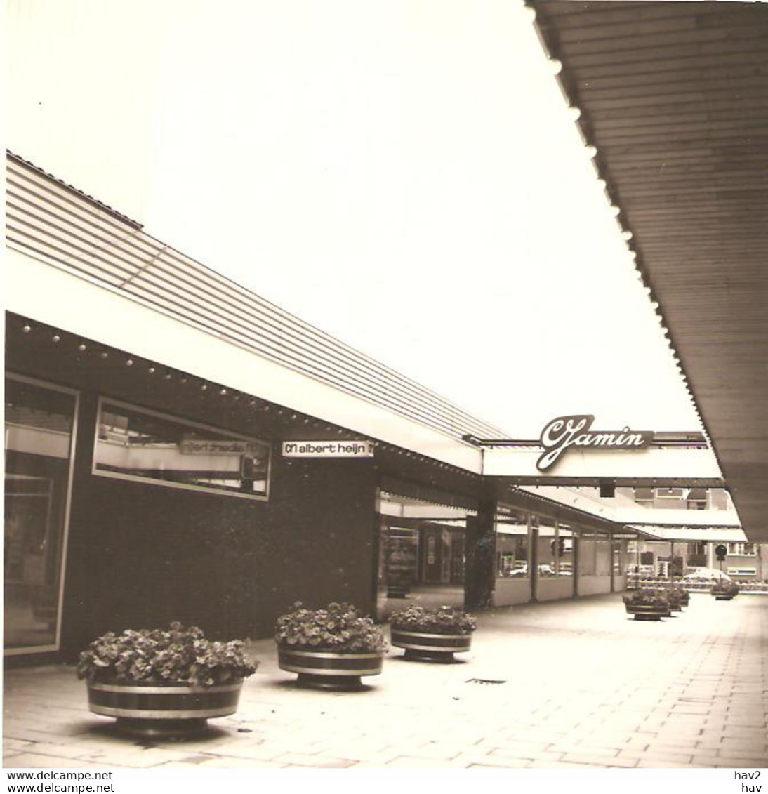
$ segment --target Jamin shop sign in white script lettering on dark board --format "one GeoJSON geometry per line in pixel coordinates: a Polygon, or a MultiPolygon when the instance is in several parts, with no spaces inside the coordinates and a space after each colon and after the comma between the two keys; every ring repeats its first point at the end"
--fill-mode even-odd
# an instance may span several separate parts
{"type": "Polygon", "coordinates": [[[536,461],[540,472],[554,465],[570,447],[579,449],[643,449],[653,440],[651,430],[589,430],[595,418],[589,414],[558,416],[542,430],[539,443],[544,453],[536,461]]]}

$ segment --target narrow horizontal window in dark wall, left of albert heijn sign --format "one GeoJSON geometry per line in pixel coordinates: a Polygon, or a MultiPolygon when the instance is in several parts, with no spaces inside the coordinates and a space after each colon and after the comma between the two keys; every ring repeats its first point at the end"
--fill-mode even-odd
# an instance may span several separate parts
{"type": "Polygon", "coordinates": [[[195,491],[266,499],[264,441],[101,399],[93,473],[195,491]]]}

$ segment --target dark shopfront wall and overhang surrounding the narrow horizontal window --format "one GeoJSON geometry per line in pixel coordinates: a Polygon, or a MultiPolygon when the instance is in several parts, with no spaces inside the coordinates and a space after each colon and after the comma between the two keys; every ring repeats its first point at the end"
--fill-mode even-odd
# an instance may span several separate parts
{"type": "Polygon", "coordinates": [[[219,395],[215,384],[203,391],[154,362],[132,358],[129,367],[129,353],[61,330],[33,323],[25,333],[24,323],[10,315],[6,368],[80,391],[64,658],[103,631],[170,620],[214,638],[265,637],[296,600],[344,599],[374,611],[374,461],[280,456],[285,439],[345,431],[247,395],[219,395]],[[271,442],[268,501],[92,475],[99,395],[271,442]]]}

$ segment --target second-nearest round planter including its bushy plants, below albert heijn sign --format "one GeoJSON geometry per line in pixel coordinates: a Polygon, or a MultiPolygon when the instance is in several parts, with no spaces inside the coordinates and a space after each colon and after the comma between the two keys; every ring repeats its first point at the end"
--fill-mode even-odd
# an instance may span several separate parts
{"type": "Polygon", "coordinates": [[[297,602],[277,619],[275,639],[280,669],[322,689],[361,688],[361,676],[381,673],[387,649],[384,632],[348,603],[312,610],[297,602]]]}

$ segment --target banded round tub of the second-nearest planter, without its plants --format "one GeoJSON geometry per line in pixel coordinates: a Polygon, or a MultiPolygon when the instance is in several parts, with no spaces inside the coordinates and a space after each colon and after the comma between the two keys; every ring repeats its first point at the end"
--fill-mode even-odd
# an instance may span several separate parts
{"type": "Polygon", "coordinates": [[[277,666],[298,673],[298,683],[315,689],[360,689],[361,676],[377,676],[384,653],[344,653],[327,650],[295,650],[277,646],[277,666]]]}

